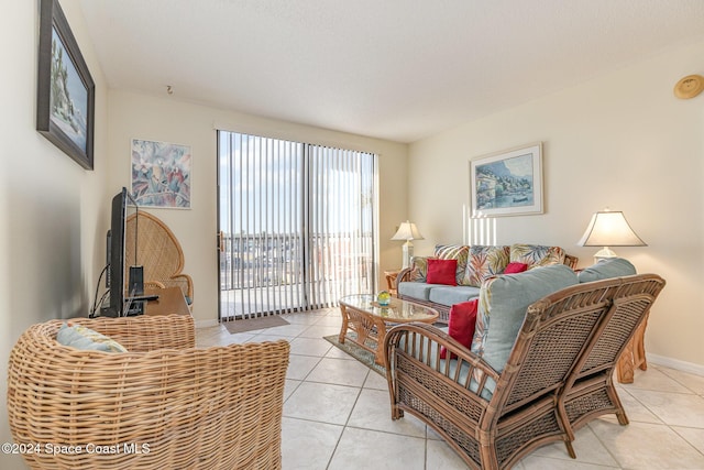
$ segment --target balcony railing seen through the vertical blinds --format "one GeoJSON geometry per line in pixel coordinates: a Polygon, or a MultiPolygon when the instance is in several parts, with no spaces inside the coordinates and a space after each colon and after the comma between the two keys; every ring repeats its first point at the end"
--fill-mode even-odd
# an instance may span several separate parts
{"type": "Polygon", "coordinates": [[[371,234],[224,234],[221,248],[223,317],[321,308],[373,289],[371,234]]]}

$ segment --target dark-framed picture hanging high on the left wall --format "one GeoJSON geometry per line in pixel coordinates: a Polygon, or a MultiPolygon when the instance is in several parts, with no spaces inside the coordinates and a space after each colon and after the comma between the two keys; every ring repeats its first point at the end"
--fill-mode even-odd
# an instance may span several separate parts
{"type": "Polygon", "coordinates": [[[41,0],[36,130],[92,170],[96,86],[58,0],[41,0]]]}

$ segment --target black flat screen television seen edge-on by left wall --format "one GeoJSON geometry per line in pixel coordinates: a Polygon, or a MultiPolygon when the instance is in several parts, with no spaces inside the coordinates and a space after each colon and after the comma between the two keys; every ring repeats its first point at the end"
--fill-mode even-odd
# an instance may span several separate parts
{"type": "MultiPolygon", "coordinates": [[[[130,287],[130,266],[138,266],[136,260],[136,243],[138,243],[138,226],[139,226],[139,207],[136,201],[130,195],[127,188],[122,188],[112,198],[112,209],[110,217],[110,230],[107,236],[107,277],[106,284],[110,289],[109,305],[101,309],[101,315],[107,317],[121,317],[129,315],[132,306],[132,297],[141,295],[143,292],[132,285],[130,287]],[[130,233],[128,237],[128,217],[132,214],[138,215],[135,223],[131,227],[134,233],[130,233]],[[130,252],[134,253],[134,260],[125,260],[127,240],[134,242],[134,250],[130,252]]],[[[140,269],[141,270],[141,269],[140,269]]],[[[141,285],[141,280],[140,285],[141,285]]],[[[135,283],[133,283],[135,284],[135,283]]],[[[141,304],[139,305],[141,306],[141,304]]]]}

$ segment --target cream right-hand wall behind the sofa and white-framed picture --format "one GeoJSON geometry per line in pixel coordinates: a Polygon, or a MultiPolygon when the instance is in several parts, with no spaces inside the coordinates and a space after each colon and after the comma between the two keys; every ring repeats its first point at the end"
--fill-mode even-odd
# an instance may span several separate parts
{"type": "Polygon", "coordinates": [[[615,251],[668,282],[646,334],[649,358],[704,373],[704,95],[672,91],[704,74],[702,57],[704,43],[682,45],[411,144],[409,214],[426,237],[416,253],[463,241],[470,160],[541,141],[544,214],[497,218],[497,243],[561,245],[586,266],[598,249],[575,243],[590,217],[623,210],[648,247],[615,251]]]}

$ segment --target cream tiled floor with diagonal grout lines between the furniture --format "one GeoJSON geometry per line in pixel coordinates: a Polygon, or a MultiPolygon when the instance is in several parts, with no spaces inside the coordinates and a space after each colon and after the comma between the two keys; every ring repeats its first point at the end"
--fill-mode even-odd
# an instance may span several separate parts
{"type": "MultiPolygon", "coordinates": [[[[322,339],[340,331],[340,313],[285,315],[290,325],[230,335],[197,330],[198,346],[284,338],[292,345],[283,419],[284,470],[464,469],[443,440],[408,414],[389,417],[386,380],[322,339]]],[[[613,416],[580,429],[576,460],[561,442],[516,469],[704,469],[704,376],[651,365],[620,385],[630,419],[613,416]]]]}

